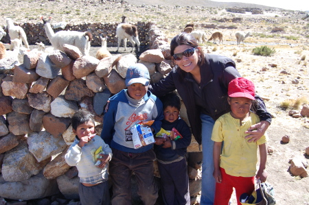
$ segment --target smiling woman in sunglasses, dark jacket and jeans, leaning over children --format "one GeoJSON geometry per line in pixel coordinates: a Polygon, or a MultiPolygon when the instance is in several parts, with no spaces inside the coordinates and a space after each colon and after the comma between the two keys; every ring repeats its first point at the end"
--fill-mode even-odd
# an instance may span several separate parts
{"type": "MultiPolygon", "coordinates": [[[[159,83],[151,84],[149,91],[160,97],[176,89],[183,99],[194,137],[203,147],[201,204],[213,204],[216,181],[212,176],[214,142],[211,132],[214,121],[230,111],[227,103],[229,82],[241,75],[233,60],[203,53],[196,39],[187,33],[172,39],[170,53],[176,66],[159,83]]],[[[257,141],[271,124],[271,114],[258,96],[254,108],[261,121],[246,132],[249,142],[257,141]]]]}

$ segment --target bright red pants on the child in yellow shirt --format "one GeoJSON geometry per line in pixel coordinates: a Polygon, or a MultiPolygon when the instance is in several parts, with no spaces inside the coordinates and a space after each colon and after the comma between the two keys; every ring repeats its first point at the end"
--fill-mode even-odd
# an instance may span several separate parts
{"type": "Polygon", "coordinates": [[[221,170],[222,182],[216,183],[216,194],[214,205],[227,205],[233,193],[233,188],[236,190],[237,204],[240,204],[239,197],[242,193],[251,195],[254,191],[254,176],[253,177],[242,177],[242,176],[230,176],[225,173],[225,169],[221,170]]]}

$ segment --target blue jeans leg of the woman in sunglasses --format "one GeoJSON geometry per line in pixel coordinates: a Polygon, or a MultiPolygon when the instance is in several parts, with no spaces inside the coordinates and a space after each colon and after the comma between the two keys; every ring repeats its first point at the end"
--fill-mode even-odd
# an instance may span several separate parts
{"type": "Polygon", "coordinates": [[[214,204],[214,195],[216,190],[216,180],[212,176],[214,172],[213,149],[214,141],[211,141],[212,128],[214,128],[214,119],[206,114],[201,114],[202,120],[202,147],[203,147],[203,165],[202,165],[202,195],[201,205],[214,204]]]}

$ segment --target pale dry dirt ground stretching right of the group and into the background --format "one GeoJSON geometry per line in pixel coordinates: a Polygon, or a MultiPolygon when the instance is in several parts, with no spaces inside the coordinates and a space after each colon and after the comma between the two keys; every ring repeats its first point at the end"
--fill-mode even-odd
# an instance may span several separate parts
{"type": "MultiPolygon", "coordinates": [[[[3,6],[6,1],[1,1],[3,6]]],[[[19,1],[14,1],[18,4],[19,1]]],[[[40,1],[38,1],[40,2],[40,1]]],[[[41,1],[45,5],[53,3],[54,1],[41,1]]],[[[55,1],[56,2],[56,1],[55,1]]],[[[57,1],[59,3],[59,1],[57,1]]],[[[71,1],[69,1],[71,2],[71,1]]],[[[83,1],[80,1],[83,2],[83,1]]],[[[140,1],[139,1],[140,2],[140,1]]],[[[156,1],[157,2],[157,1],[156,1]]],[[[158,1],[159,2],[159,1],[158,1]]],[[[194,1],[195,2],[195,1],[194,1]]],[[[147,1],[144,1],[147,5],[147,1]]],[[[159,3],[158,3],[159,4],[159,3]]],[[[58,4],[59,5],[62,4],[58,4]]],[[[83,5],[83,4],[82,4],[83,5]]],[[[253,81],[256,86],[258,95],[264,98],[268,111],[274,116],[271,126],[268,128],[268,146],[272,147],[273,153],[268,154],[266,169],[268,171],[267,182],[271,183],[275,188],[275,200],[279,205],[290,204],[309,204],[309,177],[300,178],[293,176],[289,172],[289,161],[292,158],[301,158],[304,162],[309,162],[309,157],[305,154],[306,147],[309,146],[309,119],[308,117],[293,118],[288,116],[289,110],[292,108],[284,109],[282,104],[284,101],[290,101],[291,105],[296,100],[300,101],[296,110],[301,110],[302,104],[309,104],[309,22],[302,20],[301,15],[293,11],[279,11],[271,10],[263,15],[252,14],[231,14],[222,8],[215,8],[212,10],[203,10],[200,8],[194,10],[185,7],[185,1],[177,1],[176,5],[183,5],[183,8],[175,9],[174,5],[170,7],[148,8],[134,7],[133,5],[106,5],[113,8],[113,14],[130,15],[130,21],[141,21],[142,17],[148,16],[148,21],[157,21],[159,28],[170,39],[175,34],[181,32],[181,29],[186,23],[194,22],[200,25],[196,29],[204,30],[208,38],[210,34],[215,31],[220,31],[224,35],[224,43],[222,45],[215,45],[213,43],[201,44],[206,52],[216,53],[222,56],[228,56],[236,61],[236,68],[243,77],[247,77],[253,81]],[[153,9],[153,10],[152,10],[153,9]],[[156,14],[157,19],[152,19],[151,14],[156,14]],[[174,23],[174,16],[185,18],[181,20],[182,23],[174,23]],[[193,16],[193,17],[192,17],[193,16]],[[244,40],[244,45],[238,47],[236,45],[236,38],[234,36],[236,29],[205,29],[201,27],[202,23],[218,23],[211,19],[221,19],[224,17],[242,17],[242,23],[238,23],[237,29],[244,32],[251,32],[251,36],[244,40]],[[136,19],[134,19],[136,18],[136,19]],[[165,21],[164,21],[165,19],[165,21]],[[161,23],[161,21],[165,23],[161,23]],[[273,27],[284,27],[285,32],[275,34],[273,37],[261,37],[259,34],[273,35],[271,29],[273,27]],[[294,40],[288,37],[297,37],[294,40]],[[266,45],[275,49],[273,56],[255,56],[252,49],[266,45]],[[305,59],[304,57],[305,56],[305,59]],[[303,60],[304,59],[304,60],[303,60]],[[282,71],[286,71],[282,73],[282,71]],[[294,83],[293,83],[294,80],[294,83]],[[295,83],[295,80],[298,83],[295,83]],[[289,143],[282,143],[282,136],[290,136],[289,143]]],[[[83,13],[80,5],[65,5],[69,6],[71,10],[80,10],[83,13]],[[74,7],[76,6],[76,7],[74,7]]],[[[65,9],[65,6],[63,9],[65,9]]],[[[104,6],[104,5],[100,5],[104,6]]],[[[18,7],[15,7],[17,9],[18,7]]],[[[9,8],[3,8],[9,9],[9,8]]],[[[52,8],[51,8],[52,9],[52,8]]],[[[98,8],[94,8],[88,4],[91,12],[98,12],[98,8]]],[[[29,12],[29,11],[27,11],[29,12]]],[[[26,14],[20,12],[19,15],[14,15],[17,19],[26,14]]],[[[27,14],[28,16],[30,14],[27,14]]],[[[106,12],[106,19],[109,21],[109,14],[106,12]]],[[[0,24],[4,25],[3,19],[12,14],[1,14],[0,24]]],[[[56,15],[55,15],[56,16],[56,15]]],[[[75,19],[66,19],[65,16],[58,16],[59,21],[84,21],[80,16],[74,16],[75,19]]],[[[117,17],[118,18],[118,17],[117,17]]],[[[144,18],[144,17],[143,17],[144,18]]],[[[113,21],[120,21],[120,19],[113,19],[113,21]]],[[[177,20],[178,21],[178,20],[177,20]]],[[[232,23],[222,23],[231,25],[232,23]]],[[[33,48],[34,46],[32,46],[33,48]]],[[[91,47],[91,56],[95,56],[96,51],[100,47],[91,47]]],[[[115,54],[116,47],[108,48],[112,54],[115,54]]],[[[119,53],[129,53],[130,48],[124,53],[123,48],[119,49],[119,53]]],[[[139,56],[140,53],[137,53],[139,56]]],[[[307,169],[307,171],[309,171],[307,169]]],[[[236,204],[236,199],[231,198],[233,205],[236,204]]]]}

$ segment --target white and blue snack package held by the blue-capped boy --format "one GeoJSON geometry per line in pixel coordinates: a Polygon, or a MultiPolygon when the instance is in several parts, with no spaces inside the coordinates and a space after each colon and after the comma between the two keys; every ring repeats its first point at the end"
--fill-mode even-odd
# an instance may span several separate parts
{"type": "Polygon", "coordinates": [[[150,145],[155,143],[155,138],[149,127],[144,127],[144,125],[134,125],[131,128],[132,140],[135,149],[150,145]]]}

